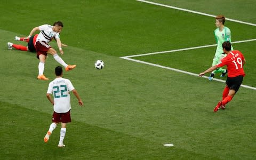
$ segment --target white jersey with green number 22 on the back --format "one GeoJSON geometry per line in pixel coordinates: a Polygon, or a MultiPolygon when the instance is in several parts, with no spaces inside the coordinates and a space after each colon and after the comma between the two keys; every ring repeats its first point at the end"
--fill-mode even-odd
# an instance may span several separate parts
{"type": "Polygon", "coordinates": [[[74,90],[74,86],[66,78],[55,78],[50,82],[47,93],[53,94],[53,110],[57,113],[67,113],[71,109],[69,92],[74,90]]]}

